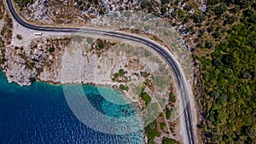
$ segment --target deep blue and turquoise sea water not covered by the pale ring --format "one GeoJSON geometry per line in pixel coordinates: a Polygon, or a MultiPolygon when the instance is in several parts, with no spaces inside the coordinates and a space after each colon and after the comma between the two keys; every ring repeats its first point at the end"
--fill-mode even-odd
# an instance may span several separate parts
{"type": "MultiPolygon", "coordinates": [[[[93,88],[84,86],[84,89],[93,88]]],[[[125,117],[135,113],[131,106],[115,106],[96,94],[90,95],[89,100],[99,112],[108,113],[111,117],[125,117]],[[106,107],[111,107],[111,112],[106,107]]],[[[0,108],[0,143],[4,144],[122,144],[140,143],[143,139],[141,132],[108,135],[91,130],[74,116],[61,85],[36,82],[32,86],[20,88],[17,84],[8,84],[2,72],[0,108]]]]}

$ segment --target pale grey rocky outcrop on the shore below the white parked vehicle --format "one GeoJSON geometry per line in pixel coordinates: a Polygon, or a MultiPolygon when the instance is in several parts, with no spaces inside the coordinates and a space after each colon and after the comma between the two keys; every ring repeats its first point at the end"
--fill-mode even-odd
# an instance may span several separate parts
{"type": "MultiPolygon", "coordinates": [[[[34,40],[28,48],[9,45],[4,51],[3,72],[9,83],[20,86],[30,85],[42,72],[56,72],[61,69],[61,55],[68,39],[49,40],[46,38],[34,40]],[[51,67],[55,66],[55,71],[51,67]]],[[[51,73],[53,76],[58,73],[51,73]]],[[[48,80],[49,80],[48,79],[48,80]]]]}

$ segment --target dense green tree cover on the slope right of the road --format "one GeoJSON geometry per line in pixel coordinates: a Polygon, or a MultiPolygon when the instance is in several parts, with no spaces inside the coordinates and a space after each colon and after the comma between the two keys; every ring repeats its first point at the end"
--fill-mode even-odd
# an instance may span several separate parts
{"type": "MultiPolygon", "coordinates": [[[[209,0],[213,14],[240,13],[239,22],[228,30],[225,41],[207,55],[195,55],[201,64],[201,109],[205,117],[200,128],[206,143],[256,142],[256,25],[253,1],[219,3],[209,0]],[[232,9],[230,7],[232,6],[232,9]]],[[[225,23],[234,22],[232,16],[225,23]]],[[[216,30],[215,30],[216,31],[216,30]]],[[[216,33],[216,32],[215,32],[216,33]]],[[[216,38],[218,36],[216,34],[216,38]]],[[[221,35],[221,34],[220,34],[221,35]]],[[[202,47],[201,49],[209,49],[202,47]]]]}

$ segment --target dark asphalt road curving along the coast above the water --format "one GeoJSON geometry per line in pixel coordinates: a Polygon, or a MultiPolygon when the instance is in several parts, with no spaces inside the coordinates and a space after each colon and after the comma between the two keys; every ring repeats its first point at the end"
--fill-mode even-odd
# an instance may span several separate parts
{"type": "MultiPolygon", "coordinates": [[[[159,55],[161,55],[169,66],[171,66],[172,71],[175,75],[177,86],[180,90],[180,95],[183,101],[183,118],[185,119],[185,130],[187,133],[187,143],[195,144],[195,134],[193,130],[191,110],[189,106],[189,90],[183,73],[181,72],[181,68],[177,65],[177,60],[175,60],[172,55],[170,55],[166,49],[162,48],[160,44],[154,43],[154,41],[148,40],[148,38],[137,37],[135,35],[121,33],[121,32],[113,32],[106,31],[94,28],[78,28],[78,27],[46,27],[46,26],[34,26],[26,21],[22,20],[19,14],[16,13],[12,0],[6,0],[6,3],[9,8],[9,12],[12,14],[13,18],[20,24],[20,26],[24,26],[28,29],[32,29],[35,31],[41,32],[85,32],[88,34],[103,36],[103,37],[113,37],[119,39],[125,39],[136,43],[143,43],[147,45],[149,48],[154,49],[159,55]]],[[[193,95],[190,95],[193,96],[193,95]]],[[[186,142],[186,141],[184,141],[186,142]]]]}

